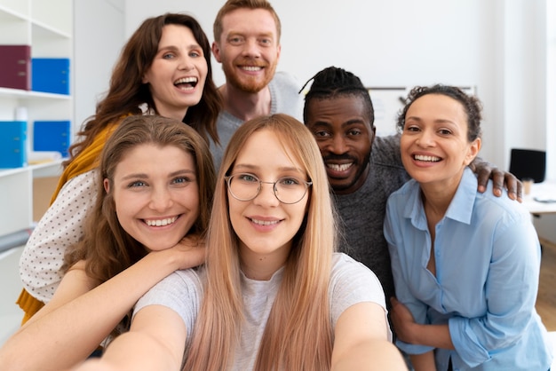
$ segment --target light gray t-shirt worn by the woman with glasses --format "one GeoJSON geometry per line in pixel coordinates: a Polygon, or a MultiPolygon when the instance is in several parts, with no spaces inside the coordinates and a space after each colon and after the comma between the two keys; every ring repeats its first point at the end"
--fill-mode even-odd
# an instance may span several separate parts
{"type": "MultiPolygon", "coordinates": [[[[250,370],[258,355],[260,339],[274,298],[282,283],[283,268],[270,280],[250,280],[242,275],[242,296],[245,322],[242,324],[241,343],[236,347],[234,370],[250,370]]],[[[203,297],[203,268],[172,273],[151,288],[135,305],[134,314],[147,305],[158,304],[171,308],[182,318],[187,328],[186,353],[191,346],[195,320],[203,297]]],[[[336,326],[340,315],[353,304],[372,302],[385,308],[385,296],[377,276],[363,264],[345,254],[334,254],[329,286],[330,321],[336,326]]],[[[386,320],[386,308],[385,308],[386,320]]],[[[392,340],[392,334],[388,334],[392,340]]]]}

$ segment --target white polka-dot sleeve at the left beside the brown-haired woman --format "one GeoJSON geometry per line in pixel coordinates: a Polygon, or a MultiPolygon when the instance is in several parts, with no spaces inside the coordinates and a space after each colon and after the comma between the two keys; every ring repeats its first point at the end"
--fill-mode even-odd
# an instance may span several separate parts
{"type": "Polygon", "coordinates": [[[83,224],[97,195],[97,170],[71,178],[39,220],[20,257],[20,278],[28,293],[48,303],[63,274],[68,246],[83,236],[83,224]]]}

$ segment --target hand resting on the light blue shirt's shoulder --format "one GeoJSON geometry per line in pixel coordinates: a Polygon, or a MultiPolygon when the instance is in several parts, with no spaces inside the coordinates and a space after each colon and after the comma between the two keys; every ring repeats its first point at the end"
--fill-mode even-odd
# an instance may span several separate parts
{"type": "Polygon", "coordinates": [[[484,162],[480,158],[475,158],[475,160],[469,165],[471,170],[477,174],[477,182],[479,186],[477,190],[480,193],[484,193],[487,189],[488,179],[492,178],[492,193],[496,197],[502,195],[502,188],[508,190],[508,197],[511,200],[522,201],[523,196],[523,185],[518,178],[507,171],[499,170],[496,165],[490,162],[484,162]]]}

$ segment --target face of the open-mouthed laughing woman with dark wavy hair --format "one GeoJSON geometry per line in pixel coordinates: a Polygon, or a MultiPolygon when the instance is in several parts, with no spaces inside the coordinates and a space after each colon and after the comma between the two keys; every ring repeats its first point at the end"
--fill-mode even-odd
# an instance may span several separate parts
{"type": "Polygon", "coordinates": [[[203,48],[191,29],[169,24],[163,27],[158,51],[143,83],[149,84],[158,114],[181,121],[187,107],[201,100],[207,72],[203,48]]]}

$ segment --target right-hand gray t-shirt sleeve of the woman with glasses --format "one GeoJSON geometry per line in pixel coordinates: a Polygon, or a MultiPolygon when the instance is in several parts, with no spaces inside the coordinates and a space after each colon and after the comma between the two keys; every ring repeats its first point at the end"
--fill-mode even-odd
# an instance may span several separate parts
{"type": "MultiPolygon", "coordinates": [[[[340,315],[347,308],[354,304],[367,302],[382,306],[385,310],[386,323],[388,323],[385,293],[377,275],[364,264],[353,260],[346,254],[335,254],[334,259],[329,290],[332,326],[336,327],[340,315]]],[[[389,326],[388,340],[392,341],[392,332],[389,326]]]]}

